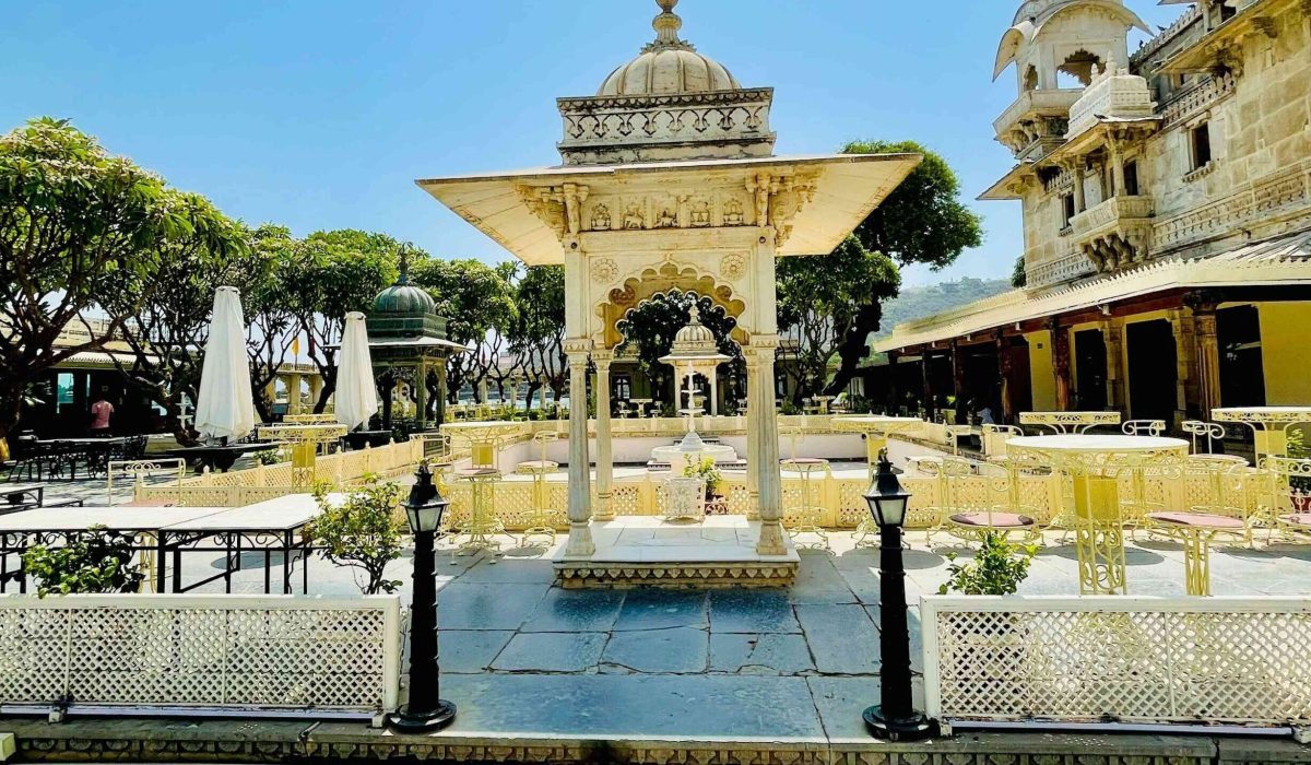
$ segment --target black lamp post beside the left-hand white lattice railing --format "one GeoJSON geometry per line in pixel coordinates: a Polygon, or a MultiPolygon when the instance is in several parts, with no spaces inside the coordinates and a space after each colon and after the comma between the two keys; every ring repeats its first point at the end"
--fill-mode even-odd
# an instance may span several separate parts
{"type": "Polygon", "coordinates": [[[455,719],[455,705],[440,698],[437,663],[437,571],[433,541],[451,504],[437,493],[433,472],[421,462],[414,471],[410,496],[401,503],[414,534],[414,596],[410,604],[410,681],[409,703],[388,718],[402,732],[431,734],[455,719]]]}

